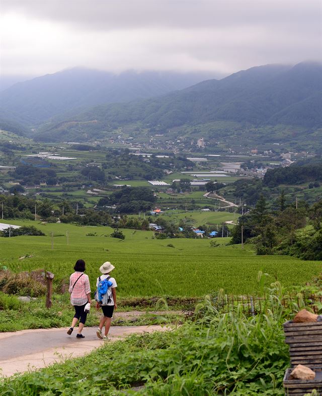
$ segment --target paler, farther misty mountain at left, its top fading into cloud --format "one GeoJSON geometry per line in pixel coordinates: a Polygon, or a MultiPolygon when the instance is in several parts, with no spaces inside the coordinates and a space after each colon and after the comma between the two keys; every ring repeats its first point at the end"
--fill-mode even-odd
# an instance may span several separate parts
{"type": "Polygon", "coordinates": [[[26,125],[108,103],[162,95],[188,87],[214,73],[106,71],[73,68],[19,82],[0,93],[0,119],[26,125]]]}

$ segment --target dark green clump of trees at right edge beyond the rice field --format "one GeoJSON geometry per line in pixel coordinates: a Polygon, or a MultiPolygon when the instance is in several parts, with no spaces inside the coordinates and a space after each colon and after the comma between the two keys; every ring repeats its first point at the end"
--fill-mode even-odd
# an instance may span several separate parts
{"type": "Polygon", "coordinates": [[[322,260],[322,200],[311,207],[287,206],[284,193],[279,210],[270,211],[264,195],[255,209],[238,219],[232,244],[254,244],[257,254],[286,254],[304,260],[322,260]],[[309,228],[304,228],[310,225],[309,228]]]}

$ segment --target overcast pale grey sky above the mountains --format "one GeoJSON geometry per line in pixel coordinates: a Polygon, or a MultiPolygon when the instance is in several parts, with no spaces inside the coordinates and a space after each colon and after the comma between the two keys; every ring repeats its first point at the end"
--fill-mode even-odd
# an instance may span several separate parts
{"type": "Polygon", "coordinates": [[[1,73],[230,74],[322,60],[321,0],[0,0],[1,73]]]}

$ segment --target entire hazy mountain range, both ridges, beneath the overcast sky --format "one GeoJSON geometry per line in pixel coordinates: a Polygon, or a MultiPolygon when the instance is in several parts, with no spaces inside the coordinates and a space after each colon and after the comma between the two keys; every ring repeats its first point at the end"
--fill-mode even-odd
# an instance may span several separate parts
{"type": "MultiPolygon", "coordinates": [[[[252,67],[169,92],[171,86],[200,77],[133,71],[116,76],[86,69],[65,70],[2,92],[0,128],[27,133],[40,141],[101,138],[128,125],[143,128],[150,136],[156,131],[166,133],[171,139],[172,128],[198,126],[204,135],[203,126],[213,122],[238,123],[246,138],[248,128],[279,125],[296,127],[301,141],[305,141],[305,135],[312,134],[313,140],[320,135],[320,63],[252,67]],[[146,98],[153,92],[158,93],[146,98]],[[32,125],[36,125],[34,133],[30,131],[32,125]]],[[[229,129],[224,130],[228,136],[229,129]]],[[[291,135],[285,139],[292,139],[291,135]]]]}

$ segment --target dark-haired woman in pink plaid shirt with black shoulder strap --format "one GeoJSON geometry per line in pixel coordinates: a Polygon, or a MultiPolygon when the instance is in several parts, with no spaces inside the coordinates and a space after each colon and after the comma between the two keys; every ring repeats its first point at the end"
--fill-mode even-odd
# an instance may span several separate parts
{"type": "Polygon", "coordinates": [[[76,323],[79,320],[77,338],[85,338],[82,334],[84,328],[87,313],[85,312],[85,306],[87,303],[91,304],[91,286],[88,275],[85,271],[85,261],[77,260],[74,265],[75,272],[70,275],[69,278],[69,289],[70,292],[70,303],[74,306],[75,315],[71,322],[70,329],[67,334],[71,334],[74,330],[76,323]]]}

